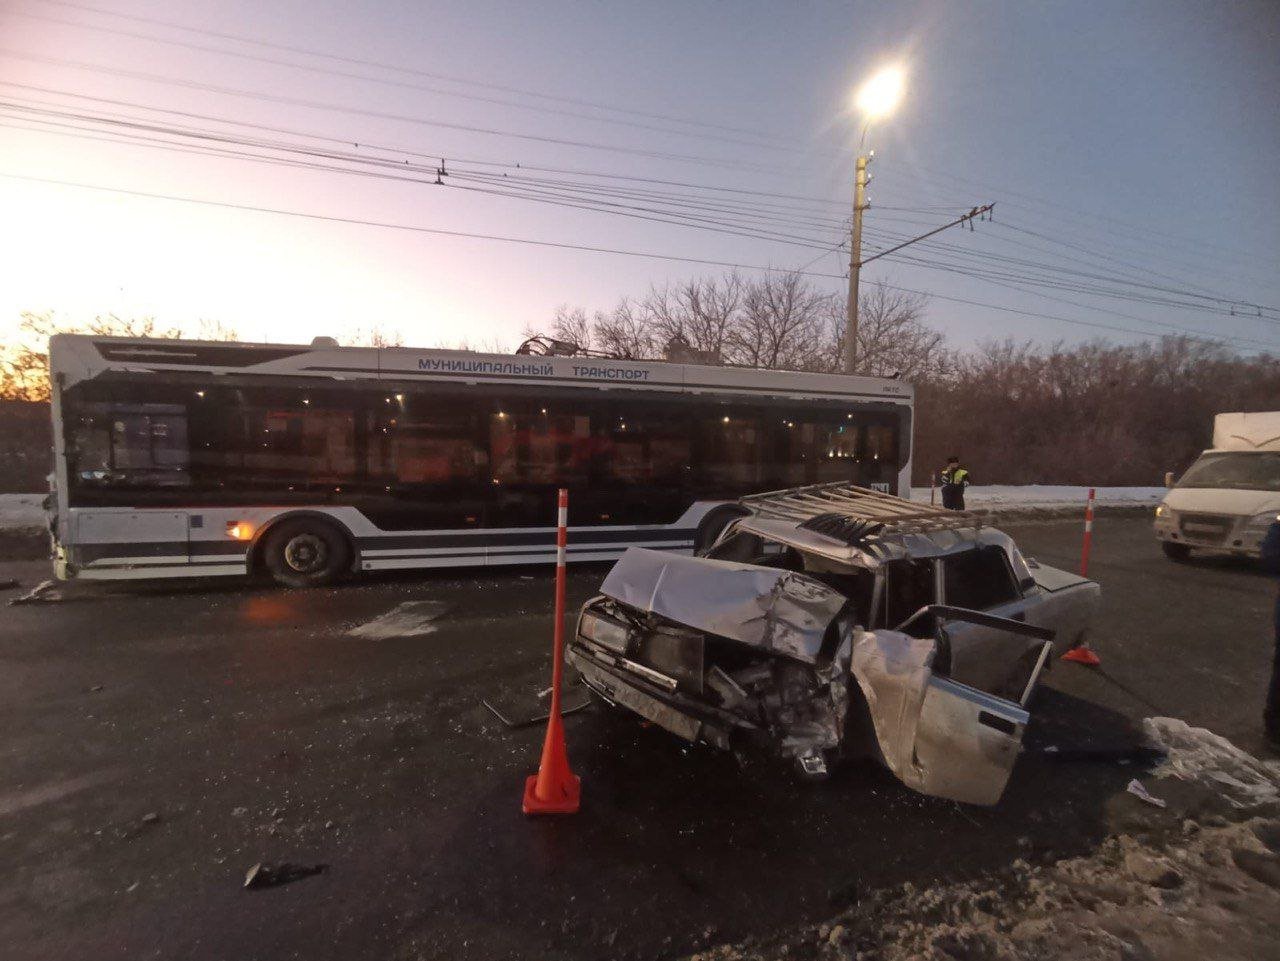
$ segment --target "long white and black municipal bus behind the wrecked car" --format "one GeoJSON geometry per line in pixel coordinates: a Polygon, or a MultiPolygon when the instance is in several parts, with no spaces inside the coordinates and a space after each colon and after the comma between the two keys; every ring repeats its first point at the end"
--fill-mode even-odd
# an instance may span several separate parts
{"type": "Polygon", "coordinates": [[[690,553],[735,498],[846,480],[908,495],[897,380],[404,347],[50,340],[61,578],[690,553]]]}

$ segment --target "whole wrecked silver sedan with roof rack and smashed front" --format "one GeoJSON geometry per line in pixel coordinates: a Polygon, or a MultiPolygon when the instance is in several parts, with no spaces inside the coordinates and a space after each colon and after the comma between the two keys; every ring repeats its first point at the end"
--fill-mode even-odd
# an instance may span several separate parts
{"type": "Polygon", "coordinates": [[[916,791],[998,801],[1039,673],[1085,639],[1098,585],[1028,563],[974,514],[864,488],[740,503],[705,557],[618,560],[568,645],[584,683],[805,775],[869,754],[916,791]]]}

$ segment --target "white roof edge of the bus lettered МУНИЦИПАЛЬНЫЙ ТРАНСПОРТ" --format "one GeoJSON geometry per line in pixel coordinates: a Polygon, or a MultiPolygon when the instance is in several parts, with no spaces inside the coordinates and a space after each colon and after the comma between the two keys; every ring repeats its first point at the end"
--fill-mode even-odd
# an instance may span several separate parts
{"type": "Polygon", "coordinates": [[[781,394],[901,404],[910,404],[914,398],[910,384],[888,377],[413,347],[317,347],[56,334],[50,338],[49,352],[54,383],[63,386],[108,371],[200,371],[401,384],[483,381],[675,393],[781,394]]]}

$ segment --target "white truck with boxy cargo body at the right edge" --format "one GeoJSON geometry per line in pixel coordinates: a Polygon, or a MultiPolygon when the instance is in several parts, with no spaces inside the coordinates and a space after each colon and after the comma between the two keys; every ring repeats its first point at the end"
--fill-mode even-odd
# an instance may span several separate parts
{"type": "Polygon", "coordinates": [[[1156,537],[1166,557],[1192,549],[1257,557],[1280,520],[1280,411],[1220,413],[1213,447],[1172,482],[1156,508],[1156,537]]]}

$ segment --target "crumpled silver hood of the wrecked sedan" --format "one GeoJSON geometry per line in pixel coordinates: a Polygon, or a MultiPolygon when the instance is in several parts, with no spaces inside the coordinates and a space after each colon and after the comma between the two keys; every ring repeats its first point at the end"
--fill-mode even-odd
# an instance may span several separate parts
{"type": "Polygon", "coordinates": [[[630,548],[600,592],[620,604],[813,663],[847,603],[792,571],[630,548]]]}

